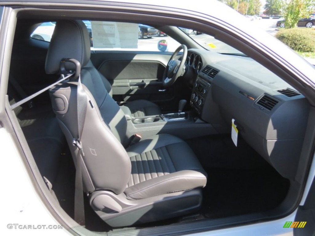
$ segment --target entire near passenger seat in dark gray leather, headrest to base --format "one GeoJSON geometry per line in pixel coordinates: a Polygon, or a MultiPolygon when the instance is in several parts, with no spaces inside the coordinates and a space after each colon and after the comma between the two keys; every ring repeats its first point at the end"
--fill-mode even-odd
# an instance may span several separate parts
{"type": "MultiPolygon", "coordinates": [[[[83,68],[89,63],[89,53],[81,50],[84,44],[89,44],[83,25],[81,21],[56,22],[46,59],[47,72],[58,73],[62,58],[77,59],[83,68]]],[[[103,82],[95,79],[98,77],[95,74],[81,71],[87,95],[81,138],[82,177],[84,191],[89,193],[95,212],[106,223],[117,227],[198,210],[202,202],[201,188],[207,178],[190,147],[180,138],[161,134],[125,149],[130,138],[126,118],[107,90],[101,89],[99,83],[103,82]]],[[[77,82],[59,84],[49,93],[59,125],[76,159],[78,149],[72,142],[78,135],[77,82]]]]}

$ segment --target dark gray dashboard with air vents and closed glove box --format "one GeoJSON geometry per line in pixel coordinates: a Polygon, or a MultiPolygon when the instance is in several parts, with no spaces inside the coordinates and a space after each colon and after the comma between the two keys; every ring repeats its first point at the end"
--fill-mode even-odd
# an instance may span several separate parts
{"type": "Polygon", "coordinates": [[[238,135],[293,178],[308,119],[306,98],[249,57],[189,49],[186,65],[197,74],[190,104],[199,118],[225,132],[234,119],[238,135]]]}

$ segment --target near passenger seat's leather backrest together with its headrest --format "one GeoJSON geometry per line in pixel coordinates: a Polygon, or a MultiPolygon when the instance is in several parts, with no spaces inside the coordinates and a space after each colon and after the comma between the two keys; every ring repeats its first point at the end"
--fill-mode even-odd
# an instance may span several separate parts
{"type": "MultiPolygon", "coordinates": [[[[123,111],[107,92],[102,77],[95,67],[89,64],[89,34],[80,20],[56,22],[46,57],[46,73],[59,73],[63,58],[76,59],[80,62],[81,68],[84,68],[81,70],[81,79],[86,85],[83,87],[88,96],[88,108],[81,137],[84,152],[82,157],[84,190],[91,192],[106,189],[117,194],[122,193],[131,172],[130,159],[121,144],[127,142],[127,121],[123,111]]],[[[67,68],[71,66],[72,64],[66,65],[67,68]]],[[[58,123],[72,152],[72,158],[76,160],[77,148],[72,145],[72,141],[78,137],[77,83],[58,84],[51,88],[49,93],[58,123]]]]}

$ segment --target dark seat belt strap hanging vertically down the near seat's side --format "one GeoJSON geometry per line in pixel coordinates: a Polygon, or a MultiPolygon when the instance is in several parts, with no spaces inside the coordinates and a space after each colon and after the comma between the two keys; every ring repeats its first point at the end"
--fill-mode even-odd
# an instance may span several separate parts
{"type": "Polygon", "coordinates": [[[81,84],[81,78],[79,76],[77,86],[77,122],[78,122],[78,138],[73,139],[73,145],[77,146],[77,160],[76,160],[76,183],[74,193],[74,220],[80,224],[85,225],[84,216],[84,195],[83,195],[83,179],[82,179],[82,158],[84,156],[82,147],[82,132],[85,122],[87,109],[87,96],[81,84]]]}

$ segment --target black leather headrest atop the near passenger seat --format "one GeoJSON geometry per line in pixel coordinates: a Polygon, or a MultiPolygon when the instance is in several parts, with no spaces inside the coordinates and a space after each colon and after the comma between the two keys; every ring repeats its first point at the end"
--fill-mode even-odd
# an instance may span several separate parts
{"type": "Polygon", "coordinates": [[[58,73],[63,58],[78,60],[82,68],[89,62],[90,54],[86,25],[81,20],[57,20],[46,56],[45,71],[47,74],[58,73]]]}

